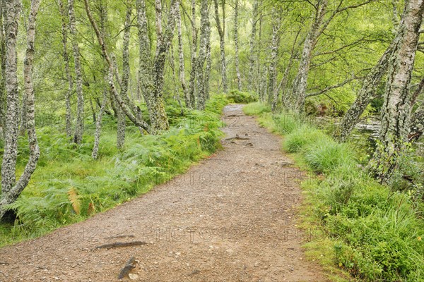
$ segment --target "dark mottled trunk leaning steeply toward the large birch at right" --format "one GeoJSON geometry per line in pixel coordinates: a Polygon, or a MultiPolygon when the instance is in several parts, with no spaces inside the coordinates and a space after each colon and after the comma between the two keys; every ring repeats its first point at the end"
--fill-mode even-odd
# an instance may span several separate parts
{"type": "Polygon", "coordinates": [[[340,127],[335,136],[341,142],[346,141],[346,138],[351,134],[353,128],[355,128],[355,125],[358,123],[360,116],[363,114],[368,104],[370,104],[372,97],[374,97],[379,82],[382,80],[383,75],[387,72],[392,50],[393,46],[391,45],[379,59],[377,65],[372,68],[370,73],[368,73],[355,102],[353,102],[352,106],[343,116],[340,127]]]}

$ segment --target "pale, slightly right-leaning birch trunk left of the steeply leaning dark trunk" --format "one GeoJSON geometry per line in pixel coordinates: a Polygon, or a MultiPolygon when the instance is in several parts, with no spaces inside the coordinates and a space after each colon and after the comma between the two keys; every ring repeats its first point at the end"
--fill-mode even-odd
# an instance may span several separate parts
{"type": "Polygon", "coordinates": [[[319,30],[322,26],[324,15],[326,14],[326,8],[328,4],[327,1],[328,0],[319,1],[316,6],[314,22],[312,23],[310,31],[307,34],[305,44],[303,44],[302,58],[300,59],[298,75],[293,82],[293,94],[295,97],[297,97],[294,109],[299,113],[302,113],[305,108],[307,78],[312,60],[312,51],[314,51],[315,44],[317,44],[319,30]]]}

